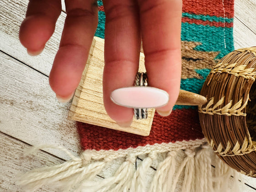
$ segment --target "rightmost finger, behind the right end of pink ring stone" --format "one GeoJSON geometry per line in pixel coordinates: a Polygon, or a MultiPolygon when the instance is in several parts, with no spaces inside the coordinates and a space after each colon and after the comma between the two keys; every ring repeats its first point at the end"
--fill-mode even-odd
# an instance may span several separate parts
{"type": "Polygon", "coordinates": [[[171,113],[181,81],[181,0],[139,0],[145,67],[150,86],[167,91],[170,100],[157,111],[171,113]]]}

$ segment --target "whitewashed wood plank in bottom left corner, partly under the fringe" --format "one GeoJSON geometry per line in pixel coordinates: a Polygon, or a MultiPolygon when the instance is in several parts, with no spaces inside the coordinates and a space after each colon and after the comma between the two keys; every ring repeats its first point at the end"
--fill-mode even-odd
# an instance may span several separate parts
{"type": "MultiPolygon", "coordinates": [[[[46,152],[39,151],[36,154],[23,157],[24,149],[30,147],[17,139],[0,133],[0,191],[1,192],[15,192],[22,191],[22,189],[16,185],[15,180],[17,176],[25,173],[33,168],[42,166],[52,166],[61,164],[64,160],[61,160],[53,155],[49,155],[46,152]]],[[[42,187],[38,191],[53,191],[50,187],[42,187]]]]}

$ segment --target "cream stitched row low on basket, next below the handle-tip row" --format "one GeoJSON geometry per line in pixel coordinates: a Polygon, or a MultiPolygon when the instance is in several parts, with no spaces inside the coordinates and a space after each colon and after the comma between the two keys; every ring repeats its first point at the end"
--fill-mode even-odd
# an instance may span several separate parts
{"type": "MultiPolygon", "coordinates": [[[[212,149],[215,146],[213,139],[211,139],[210,146],[212,149]]],[[[233,149],[231,149],[231,144],[228,141],[226,149],[224,149],[223,145],[220,143],[217,149],[214,150],[215,153],[218,153],[221,156],[245,155],[251,153],[252,151],[256,151],[256,146],[254,146],[253,144],[249,144],[247,138],[245,138],[242,146],[240,146],[240,144],[237,141],[233,149]]]]}

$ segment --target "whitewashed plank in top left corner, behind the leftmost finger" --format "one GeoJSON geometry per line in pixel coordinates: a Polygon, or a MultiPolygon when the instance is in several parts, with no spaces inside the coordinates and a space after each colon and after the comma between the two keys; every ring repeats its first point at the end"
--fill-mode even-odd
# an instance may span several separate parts
{"type": "Polygon", "coordinates": [[[0,50],[31,66],[33,69],[49,75],[55,54],[59,48],[66,14],[62,12],[59,16],[55,32],[46,43],[43,53],[39,56],[30,56],[27,54],[27,49],[19,41],[19,27],[25,18],[28,1],[0,1],[0,50]]]}

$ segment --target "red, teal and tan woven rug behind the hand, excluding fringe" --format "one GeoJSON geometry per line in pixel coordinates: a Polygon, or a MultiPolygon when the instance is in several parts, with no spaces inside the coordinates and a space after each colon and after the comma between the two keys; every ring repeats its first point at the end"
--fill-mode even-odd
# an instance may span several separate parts
{"type": "MultiPolygon", "coordinates": [[[[183,0],[181,89],[200,93],[218,59],[233,47],[233,1],[183,0]]],[[[104,38],[105,13],[101,1],[96,36],[104,38]]],[[[171,75],[171,74],[170,74],[171,75]]],[[[127,149],[176,141],[203,139],[196,107],[175,106],[169,117],[155,114],[148,137],[77,123],[86,149],[127,149]]]]}

